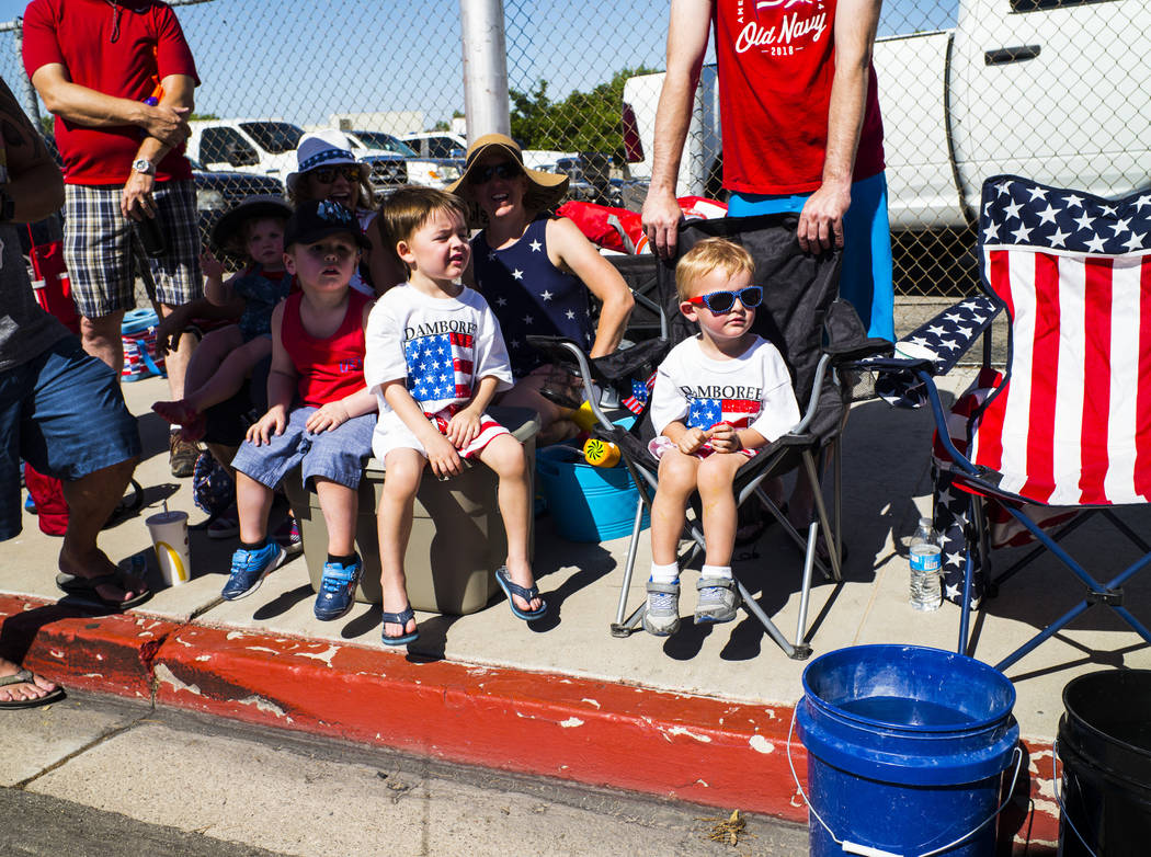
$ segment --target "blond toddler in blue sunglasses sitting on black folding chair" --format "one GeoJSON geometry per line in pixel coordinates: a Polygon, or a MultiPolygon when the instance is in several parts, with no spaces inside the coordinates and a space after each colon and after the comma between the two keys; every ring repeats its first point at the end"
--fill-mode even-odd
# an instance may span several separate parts
{"type": "Polygon", "coordinates": [[[800,420],[787,366],[775,345],[752,332],[763,289],[755,262],[722,238],[700,242],[676,266],[679,311],[699,326],[664,359],[651,392],[660,487],[651,504],[651,575],[643,628],[679,628],[676,557],[687,502],[700,492],[707,549],[695,584],[695,623],[730,622],[739,595],[731,574],[735,542],[732,482],[756,452],[800,420]]]}

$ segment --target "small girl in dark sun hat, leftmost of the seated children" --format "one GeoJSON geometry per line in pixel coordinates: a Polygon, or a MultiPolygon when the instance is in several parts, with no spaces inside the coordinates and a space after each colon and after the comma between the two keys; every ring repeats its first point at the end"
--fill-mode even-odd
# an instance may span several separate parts
{"type": "Polygon", "coordinates": [[[152,405],[168,422],[181,427],[185,441],[204,437],[204,411],[226,401],[244,387],[252,368],[272,353],[272,311],[288,297],[292,277],[284,270],[284,224],[291,206],[274,197],[253,197],[224,214],[212,229],[212,240],[247,260],[227,281],[223,266],[205,250],[204,296],[218,307],[243,303],[235,324],[207,334],[188,366],[184,398],[152,405]]]}

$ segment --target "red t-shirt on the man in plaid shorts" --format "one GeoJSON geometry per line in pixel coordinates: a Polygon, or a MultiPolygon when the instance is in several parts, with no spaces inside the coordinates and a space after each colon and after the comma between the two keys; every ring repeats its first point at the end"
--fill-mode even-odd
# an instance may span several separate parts
{"type": "MultiPolygon", "coordinates": [[[[73,83],[119,98],[157,95],[168,75],[199,84],[176,14],[154,0],[32,0],[24,12],[24,69],[60,63],[73,83]],[[119,29],[119,32],[117,32],[119,29]],[[113,41],[115,36],[115,41],[113,41]]],[[[140,146],[137,125],[86,128],[56,116],[69,184],[123,184],[140,146]]],[[[184,147],[157,164],[158,182],[192,177],[184,147]]]]}

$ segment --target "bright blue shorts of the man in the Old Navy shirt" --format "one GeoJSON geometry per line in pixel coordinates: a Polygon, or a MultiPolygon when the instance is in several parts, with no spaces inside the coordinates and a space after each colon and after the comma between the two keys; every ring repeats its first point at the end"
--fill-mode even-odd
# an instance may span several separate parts
{"type": "MultiPolygon", "coordinates": [[[[810,193],[732,193],[727,214],[802,211],[810,193]]],[[[895,292],[891,274],[891,224],[887,220],[887,177],[878,175],[852,184],[852,205],[844,216],[844,267],[839,296],[851,301],[869,336],[894,342],[895,292]]]]}

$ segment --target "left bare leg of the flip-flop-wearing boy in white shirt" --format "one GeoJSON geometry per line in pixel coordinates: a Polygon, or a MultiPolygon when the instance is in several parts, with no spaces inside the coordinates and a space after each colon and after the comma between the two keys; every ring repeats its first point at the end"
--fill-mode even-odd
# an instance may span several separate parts
{"type": "MultiPolygon", "coordinates": [[[[412,449],[391,450],[383,459],[383,491],[380,497],[380,588],[383,611],[399,613],[407,604],[407,581],[404,576],[404,553],[412,534],[416,491],[420,487],[425,458],[412,449]]],[[[406,626],[386,622],[384,636],[398,637],[416,630],[416,620],[406,626]]]]}

